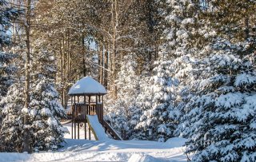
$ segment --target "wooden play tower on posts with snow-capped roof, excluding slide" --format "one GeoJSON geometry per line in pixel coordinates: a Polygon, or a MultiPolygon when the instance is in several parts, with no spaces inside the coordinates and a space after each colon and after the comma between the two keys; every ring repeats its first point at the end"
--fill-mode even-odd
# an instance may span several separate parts
{"type": "Polygon", "coordinates": [[[68,93],[71,97],[71,109],[68,117],[72,121],[71,136],[72,139],[80,139],[80,124],[84,124],[84,138],[91,139],[91,128],[87,121],[87,115],[97,115],[98,121],[109,132],[115,140],[122,140],[114,129],[103,119],[103,96],[106,95],[106,89],[92,77],[83,77],[74,84],[68,93]]]}

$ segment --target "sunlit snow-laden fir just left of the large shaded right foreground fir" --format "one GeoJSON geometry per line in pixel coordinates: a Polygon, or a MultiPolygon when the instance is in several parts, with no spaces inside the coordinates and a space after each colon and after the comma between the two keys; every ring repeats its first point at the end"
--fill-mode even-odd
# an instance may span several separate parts
{"type": "Polygon", "coordinates": [[[136,128],[140,131],[150,129],[153,140],[164,141],[172,136],[179,116],[178,112],[174,112],[173,102],[178,80],[170,77],[171,61],[156,64],[159,65],[153,69],[153,76],[148,80],[146,89],[138,97],[138,107],[143,114],[136,128]]]}

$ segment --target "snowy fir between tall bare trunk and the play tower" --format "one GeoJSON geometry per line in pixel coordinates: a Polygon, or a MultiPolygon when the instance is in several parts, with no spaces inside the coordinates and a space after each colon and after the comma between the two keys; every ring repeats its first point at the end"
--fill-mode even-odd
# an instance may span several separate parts
{"type": "Polygon", "coordinates": [[[57,149],[63,142],[66,128],[60,124],[60,118],[65,117],[60,104],[58,92],[54,89],[52,80],[38,77],[32,85],[30,102],[30,124],[33,148],[39,150],[57,149]]]}

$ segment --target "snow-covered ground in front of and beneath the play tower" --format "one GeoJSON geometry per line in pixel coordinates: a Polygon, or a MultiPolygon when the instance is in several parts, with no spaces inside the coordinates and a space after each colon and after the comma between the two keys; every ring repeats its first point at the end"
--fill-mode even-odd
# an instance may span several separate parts
{"type": "MultiPolygon", "coordinates": [[[[70,124],[66,127],[70,129],[70,124]]],[[[66,144],[58,152],[0,153],[0,161],[186,161],[185,148],[181,147],[185,140],[182,138],[159,143],[145,140],[72,140],[70,135],[65,137],[66,144]]]]}

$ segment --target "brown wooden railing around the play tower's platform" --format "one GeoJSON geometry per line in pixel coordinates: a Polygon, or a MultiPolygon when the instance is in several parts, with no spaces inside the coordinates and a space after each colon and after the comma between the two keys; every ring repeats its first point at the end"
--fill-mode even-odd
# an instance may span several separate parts
{"type": "Polygon", "coordinates": [[[97,115],[98,120],[103,120],[102,104],[75,104],[72,105],[71,119],[74,121],[86,121],[86,115],[97,115]]]}

